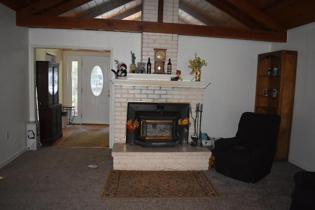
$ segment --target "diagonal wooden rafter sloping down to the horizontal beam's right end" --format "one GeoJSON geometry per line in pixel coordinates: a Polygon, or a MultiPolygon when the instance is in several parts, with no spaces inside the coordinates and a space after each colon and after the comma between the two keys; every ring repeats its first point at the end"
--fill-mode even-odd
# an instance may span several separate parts
{"type": "Polygon", "coordinates": [[[255,20],[259,21],[261,24],[279,31],[283,32],[286,31],[284,27],[280,26],[277,22],[269,18],[267,15],[262,13],[260,10],[256,9],[254,6],[246,2],[245,0],[227,0],[237,8],[241,9],[243,12],[250,15],[255,20]]]}

